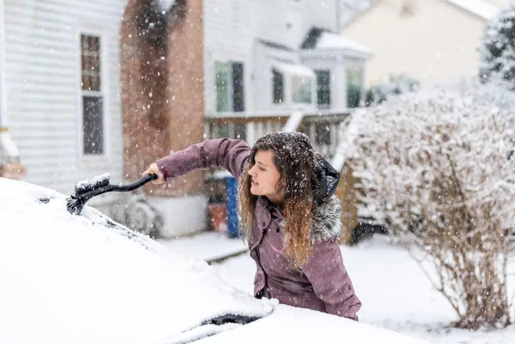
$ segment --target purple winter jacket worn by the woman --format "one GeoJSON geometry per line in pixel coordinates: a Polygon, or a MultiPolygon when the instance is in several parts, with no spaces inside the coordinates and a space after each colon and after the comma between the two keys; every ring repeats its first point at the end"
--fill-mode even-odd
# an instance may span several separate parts
{"type": "MultiPolygon", "coordinates": [[[[159,159],[165,181],[195,169],[223,167],[238,178],[245,168],[250,147],[242,140],[214,139],[159,159]]],[[[312,214],[312,251],[301,271],[289,268],[283,253],[283,216],[259,196],[253,216],[252,236],[247,238],[256,263],[254,296],[265,288],[265,297],[290,306],[310,308],[358,321],[361,301],[344,267],[337,237],[341,232],[341,202],[332,196],[312,214]]]]}

